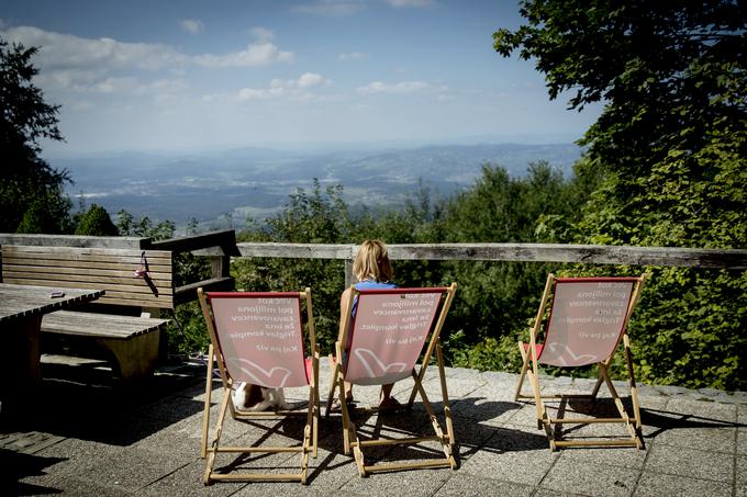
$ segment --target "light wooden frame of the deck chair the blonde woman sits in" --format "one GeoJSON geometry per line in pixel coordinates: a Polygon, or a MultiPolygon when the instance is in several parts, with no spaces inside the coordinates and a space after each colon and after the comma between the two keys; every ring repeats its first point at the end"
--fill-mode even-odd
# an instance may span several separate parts
{"type": "MultiPolygon", "coordinates": [[[[354,306],[354,303],[357,301],[358,303],[360,302],[360,298],[366,298],[367,294],[395,294],[395,295],[405,295],[405,294],[438,294],[439,296],[439,308],[437,309],[435,316],[430,323],[430,331],[426,332],[425,339],[423,342],[423,347],[420,349],[420,357],[421,362],[420,362],[420,369],[419,371],[415,371],[415,366],[411,369],[409,372],[409,375],[414,380],[414,386],[412,389],[412,393],[410,394],[410,399],[408,400],[408,404],[405,405],[406,409],[411,409],[413,402],[415,399],[416,395],[420,395],[423,406],[428,415],[428,418],[431,419],[431,425],[434,431],[434,434],[432,436],[424,436],[424,437],[406,437],[406,438],[398,438],[398,439],[370,439],[370,440],[361,440],[358,437],[358,430],[356,429],[356,425],[352,419],[352,414],[348,410],[348,406],[346,405],[345,402],[345,388],[344,388],[344,382],[347,381],[346,379],[346,372],[345,369],[343,368],[342,361],[338,361],[335,357],[330,357],[330,363],[332,368],[332,377],[331,377],[331,385],[330,385],[330,394],[327,396],[327,404],[326,404],[326,416],[330,415],[330,409],[332,407],[332,402],[334,398],[335,392],[338,393],[338,399],[339,399],[339,405],[341,405],[341,414],[342,414],[342,419],[343,419],[343,443],[344,443],[344,451],[345,454],[349,454],[350,450],[353,450],[353,454],[355,456],[355,462],[356,466],[358,468],[358,474],[363,476],[367,476],[370,473],[377,473],[377,472],[393,472],[393,471],[402,471],[402,470],[414,470],[414,468],[427,468],[427,467],[450,467],[451,470],[456,470],[457,463],[454,458],[453,453],[453,448],[455,444],[455,436],[454,436],[454,422],[451,419],[451,408],[449,405],[449,399],[448,399],[448,391],[446,387],[446,375],[444,372],[444,358],[442,354],[442,349],[441,349],[441,342],[439,342],[439,335],[441,330],[444,326],[444,321],[446,320],[446,316],[448,314],[449,307],[451,305],[451,302],[454,300],[454,295],[456,293],[457,284],[453,283],[450,286],[447,287],[432,287],[432,289],[389,289],[389,290],[356,290],[355,285],[350,287],[350,297],[347,302],[347,310],[344,313],[344,321],[341,326],[341,329],[343,330],[342,337],[339,337],[339,340],[335,343],[335,351],[336,351],[336,358],[343,358],[343,344],[346,343],[347,340],[347,335],[354,334],[355,332],[355,320],[356,318],[352,317],[350,309],[354,306]],[[443,296],[443,298],[442,298],[443,296]],[[427,347],[425,347],[425,343],[427,343],[427,347]],[[425,352],[423,352],[423,349],[425,349],[425,352]],[[435,351],[436,353],[436,360],[437,360],[437,368],[438,368],[438,375],[439,375],[439,381],[441,381],[441,392],[442,392],[442,397],[443,397],[443,403],[444,403],[444,418],[445,418],[445,426],[446,426],[446,431],[442,429],[439,422],[438,422],[438,417],[436,416],[436,413],[431,404],[431,400],[428,399],[425,389],[423,388],[423,377],[425,375],[425,370],[428,364],[428,361],[431,357],[433,355],[433,352],[435,351]],[[372,447],[372,445],[413,445],[420,442],[424,441],[437,441],[441,443],[444,456],[438,458],[438,459],[433,459],[433,460],[427,460],[427,461],[417,461],[417,462],[410,462],[410,463],[378,463],[378,464],[372,464],[368,465],[366,464],[365,460],[365,454],[364,450],[367,447],[372,447]]],[[[357,317],[357,316],[356,316],[357,317]]],[[[354,353],[354,350],[352,349],[350,354],[354,353]]],[[[405,372],[404,374],[408,374],[405,372]]],[[[356,382],[353,382],[354,384],[358,384],[356,382]]],[[[368,383],[370,384],[370,383],[368,383]]],[[[382,383],[374,383],[374,384],[382,384],[382,383]]],[[[368,409],[370,411],[377,411],[378,408],[371,408],[368,409]]]]}

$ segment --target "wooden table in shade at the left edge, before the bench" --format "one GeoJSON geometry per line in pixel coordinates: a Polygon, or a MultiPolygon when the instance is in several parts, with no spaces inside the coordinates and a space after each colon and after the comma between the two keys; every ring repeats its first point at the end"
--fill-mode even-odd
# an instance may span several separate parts
{"type": "Polygon", "coordinates": [[[0,393],[22,393],[42,379],[42,317],[93,301],[103,290],[56,289],[0,283],[0,393]]]}

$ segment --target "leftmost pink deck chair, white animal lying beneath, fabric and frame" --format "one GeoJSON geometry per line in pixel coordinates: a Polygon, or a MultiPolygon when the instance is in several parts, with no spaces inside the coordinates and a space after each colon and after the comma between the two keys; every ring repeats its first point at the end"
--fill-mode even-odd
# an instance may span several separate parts
{"type": "Polygon", "coordinates": [[[314,338],[311,291],[304,292],[208,292],[198,290],[200,305],[210,334],[208,379],[202,423],[202,458],[208,458],[203,483],[213,481],[285,481],[306,483],[309,455],[316,458],[319,439],[319,348],[314,338]],[[305,304],[308,343],[311,357],[305,357],[302,327],[302,304],[305,304]],[[210,432],[210,397],[213,383],[213,357],[223,384],[223,400],[214,428],[214,439],[208,447],[210,432]],[[239,382],[256,386],[283,388],[308,387],[306,422],[301,445],[294,447],[225,447],[221,443],[226,413],[233,419],[250,419],[303,415],[302,410],[250,411],[232,402],[232,388],[239,382]],[[232,453],[299,452],[299,473],[213,471],[216,455],[232,453]]]}

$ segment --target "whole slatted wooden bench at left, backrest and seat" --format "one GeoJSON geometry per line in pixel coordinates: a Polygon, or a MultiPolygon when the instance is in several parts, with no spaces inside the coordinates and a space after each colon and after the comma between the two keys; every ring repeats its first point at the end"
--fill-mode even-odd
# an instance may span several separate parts
{"type": "Polygon", "coordinates": [[[114,372],[125,381],[149,376],[155,369],[160,329],[169,320],[149,316],[158,316],[163,308],[174,309],[172,272],[168,250],[2,247],[4,283],[105,292],[86,312],[45,315],[42,336],[93,339],[109,352],[114,372]],[[142,258],[147,262],[147,275],[137,278],[142,258]]]}

